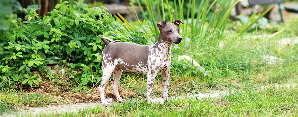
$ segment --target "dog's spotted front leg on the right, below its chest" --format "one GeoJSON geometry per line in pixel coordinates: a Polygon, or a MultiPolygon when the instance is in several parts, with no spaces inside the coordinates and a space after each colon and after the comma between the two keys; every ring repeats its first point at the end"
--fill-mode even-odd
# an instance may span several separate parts
{"type": "Polygon", "coordinates": [[[165,71],[162,72],[162,98],[163,98],[163,103],[166,102],[168,98],[168,87],[169,87],[169,82],[170,82],[170,68],[166,67],[165,71]]]}

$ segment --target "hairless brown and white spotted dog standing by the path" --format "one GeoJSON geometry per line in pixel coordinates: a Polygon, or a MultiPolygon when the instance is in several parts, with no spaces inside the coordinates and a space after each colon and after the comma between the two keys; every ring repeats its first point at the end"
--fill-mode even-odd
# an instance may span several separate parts
{"type": "Polygon", "coordinates": [[[114,94],[119,102],[126,102],[118,92],[118,82],[123,71],[147,74],[148,103],[151,103],[152,100],[153,81],[158,73],[162,73],[162,97],[164,102],[167,100],[172,44],[179,44],[182,40],[178,29],[180,23],[182,23],[180,20],[174,20],[172,23],[166,23],[166,20],[158,22],[157,27],[160,34],[157,42],[153,45],[139,45],[129,42],[116,43],[105,36],[100,37],[105,45],[102,51],[103,77],[98,87],[103,105],[111,105],[104,98],[104,88],[112,73],[114,80],[111,86],[114,94]]]}

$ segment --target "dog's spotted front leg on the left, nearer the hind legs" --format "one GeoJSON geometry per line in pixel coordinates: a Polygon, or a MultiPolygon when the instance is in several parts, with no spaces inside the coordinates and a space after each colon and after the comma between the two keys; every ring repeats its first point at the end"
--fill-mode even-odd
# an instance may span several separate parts
{"type": "Polygon", "coordinates": [[[148,103],[152,102],[152,88],[153,88],[153,82],[156,77],[156,74],[152,74],[149,72],[147,74],[147,100],[148,103]]]}

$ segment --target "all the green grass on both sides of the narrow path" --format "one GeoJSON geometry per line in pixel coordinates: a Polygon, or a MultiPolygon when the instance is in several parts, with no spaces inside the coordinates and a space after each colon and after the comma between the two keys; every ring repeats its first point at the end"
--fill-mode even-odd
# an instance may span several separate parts
{"type": "MultiPolygon", "coordinates": [[[[207,75],[202,72],[180,72],[173,66],[169,96],[234,90],[222,98],[187,98],[169,100],[167,104],[147,104],[146,75],[124,73],[121,79],[125,80],[121,80],[120,84],[132,89],[136,93],[134,97],[139,100],[125,104],[113,102],[116,105],[110,108],[87,108],[50,116],[297,116],[298,44],[285,46],[278,43],[283,38],[291,40],[297,37],[297,24],[293,25],[291,28],[285,24],[289,28],[274,37],[266,36],[272,35],[272,32],[260,30],[237,38],[233,38],[235,34],[228,33],[220,40],[213,40],[214,35],[204,40],[197,37],[197,41],[188,47],[185,47],[185,40],[174,45],[177,49],[173,49],[173,56],[192,56],[205,68],[207,75]],[[254,38],[255,35],[265,36],[254,38]],[[262,59],[264,55],[276,56],[284,61],[282,64],[269,64],[262,59]],[[295,85],[287,87],[288,83],[295,85]],[[280,84],[280,87],[276,88],[275,84],[280,84]],[[267,88],[261,88],[264,86],[267,88]]],[[[161,80],[161,75],[158,75],[154,81],[154,96],[161,96],[161,80]]],[[[0,93],[0,113],[21,106],[46,106],[53,102],[51,97],[43,94],[13,90],[0,93]]]]}

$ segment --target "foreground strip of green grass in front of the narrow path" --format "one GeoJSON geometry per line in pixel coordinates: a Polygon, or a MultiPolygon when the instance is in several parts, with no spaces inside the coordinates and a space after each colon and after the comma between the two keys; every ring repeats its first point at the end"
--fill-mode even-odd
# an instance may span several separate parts
{"type": "Polygon", "coordinates": [[[144,98],[111,107],[95,107],[62,114],[37,116],[297,116],[298,83],[247,83],[222,98],[186,98],[148,104],[144,98]]]}

